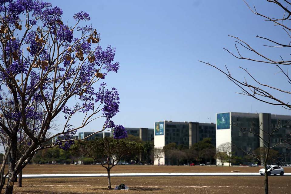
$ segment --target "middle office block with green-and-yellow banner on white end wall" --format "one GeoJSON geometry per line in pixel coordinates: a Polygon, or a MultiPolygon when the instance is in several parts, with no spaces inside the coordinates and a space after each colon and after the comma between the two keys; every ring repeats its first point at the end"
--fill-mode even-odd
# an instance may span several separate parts
{"type": "MultiPolygon", "coordinates": [[[[172,122],[160,121],[155,122],[154,145],[155,148],[162,149],[169,143],[191,147],[194,143],[201,141],[203,138],[212,138],[212,144],[215,146],[216,133],[214,123],[198,122],[172,122]]],[[[166,164],[167,157],[164,155],[160,163],[166,164]]],[[[154,164],[158,164],[155,159],[154,164]]]]}

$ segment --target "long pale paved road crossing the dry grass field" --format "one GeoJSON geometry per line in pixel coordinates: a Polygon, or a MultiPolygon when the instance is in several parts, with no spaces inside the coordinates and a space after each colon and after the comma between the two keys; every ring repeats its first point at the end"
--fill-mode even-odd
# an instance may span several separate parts
{"type": "MultiPolygon", "coordinates": [[[[33,174],[23,178],[103,177],[107,174],[33,174]]],[[[193,173],[112,173],[110,176],[260,176],[258,172],[193,172],[193,173]]],[[[291,176],[285,173],[284,176],[291,176]]]]}

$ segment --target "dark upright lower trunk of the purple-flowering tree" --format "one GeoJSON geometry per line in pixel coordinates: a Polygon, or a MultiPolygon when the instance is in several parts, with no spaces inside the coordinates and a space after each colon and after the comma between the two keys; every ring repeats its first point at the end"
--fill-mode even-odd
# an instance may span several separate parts
{"type": "Polygon", "coordinates": [[[17,137],[11,138],[11,150],[9,154],[9,168],[8,168],[8,181],[5,189],[5,194],[12,194],[13,186],[15,181],[15,176],[17,175],[15,172],[15,163],[16,163],[16,153],[17,152],[17,137]]]}

